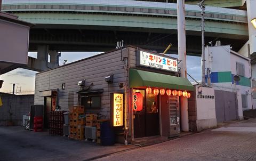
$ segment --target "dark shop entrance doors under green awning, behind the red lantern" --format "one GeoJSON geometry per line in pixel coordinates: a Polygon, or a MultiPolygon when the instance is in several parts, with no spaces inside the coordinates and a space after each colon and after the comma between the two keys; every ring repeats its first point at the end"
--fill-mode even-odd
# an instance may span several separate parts
{"type": "Polygon", "coordinates": [[[143,108],[133,111],[134,138],[159,135],[159,101],[158,95],[146,94],[145,90],[133,90],[143,95],[143,108]]]}

